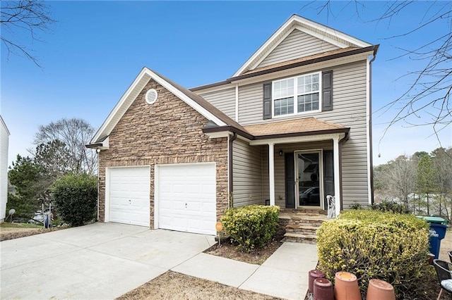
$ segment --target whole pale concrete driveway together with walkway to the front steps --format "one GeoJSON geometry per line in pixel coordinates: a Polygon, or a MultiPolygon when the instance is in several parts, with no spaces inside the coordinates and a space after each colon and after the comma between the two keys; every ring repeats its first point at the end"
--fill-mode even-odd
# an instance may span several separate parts
{"type": "Polygon", "coordinates": [[[204,254],[214,237],[95,223],[0,242],[0,299],[114,299],[167,270],[304,299],[316,246],[285,242],[263,265],[204,254]]]}

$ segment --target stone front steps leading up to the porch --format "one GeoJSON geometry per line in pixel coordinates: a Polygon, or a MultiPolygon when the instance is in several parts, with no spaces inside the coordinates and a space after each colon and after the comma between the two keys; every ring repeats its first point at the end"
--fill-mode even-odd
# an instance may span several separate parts
{"type": "Polygon", "coordinates": [[[316,244],[316,232],[326,220],[328,219],[323,211],[283,209],[280,212],[278,229],[280,234],[284,235],[283,242],[316,244]]]}

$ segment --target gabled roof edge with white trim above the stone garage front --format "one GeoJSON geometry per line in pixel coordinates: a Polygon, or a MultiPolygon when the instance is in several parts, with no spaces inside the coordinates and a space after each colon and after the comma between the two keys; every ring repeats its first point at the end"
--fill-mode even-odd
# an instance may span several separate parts
{"type": "Polygon", "coordinates": [[[143,68],[138,74],[135,80],[133,80],[129,89],[121,96],[116,106],[114,106],[111,113],[109,113],[107,119],[104,121],[99,130],[95,133],[93,139],[90,141],[90,145],[98,146],[102,144],[103,141],[109,136],[114,127],[117,125],[119,120],[121,120],[124,113],[131,106],[136,97],[143,90],[145,85],[148,84],[149,80],[155,80],[157,83],[165,87],[165,89],[172,92],[179,99],[184,101],[186,104],[194,108],[198,113],[201,113],[209,121],[215,123],[217,126],[234,126],[241,130],[243,127],[237,122],[228,117],[225,113],[222,113],[218,108],[210,104],[206,99],[198,96],[194,92],[185,89],[184,87],[177,85],[177,83],[168,80],[167,78],[155,73],[149,68],[143,68]]]}

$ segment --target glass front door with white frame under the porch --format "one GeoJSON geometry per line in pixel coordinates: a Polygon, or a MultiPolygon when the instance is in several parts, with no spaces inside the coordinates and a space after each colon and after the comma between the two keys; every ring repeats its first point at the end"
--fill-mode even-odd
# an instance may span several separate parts
{"type": "Polygon", "coordinates": [[[295,151],[295,196],[297,207],[323,206],[323,166],[319,151],[295,151]]]}

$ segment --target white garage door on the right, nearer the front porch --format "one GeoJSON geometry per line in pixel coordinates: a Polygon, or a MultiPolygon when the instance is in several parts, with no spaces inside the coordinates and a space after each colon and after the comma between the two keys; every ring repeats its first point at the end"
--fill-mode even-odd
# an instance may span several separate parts
{"type": "Polygon", "coordinates": [[[159,165],[158,227],[215,235],[214,163],[159,165]]]}

